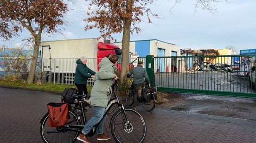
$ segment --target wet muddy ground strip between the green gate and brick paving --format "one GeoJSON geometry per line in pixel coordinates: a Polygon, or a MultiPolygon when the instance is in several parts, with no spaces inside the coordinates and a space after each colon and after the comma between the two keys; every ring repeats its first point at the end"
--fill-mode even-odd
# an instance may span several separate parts
{"type": "Polygon", "coordinates": [[[256,100],[251,98],[166,92],[159,96],[166,98],[166,102],[157,104],[161,108],[256,120],[256,100]]]}

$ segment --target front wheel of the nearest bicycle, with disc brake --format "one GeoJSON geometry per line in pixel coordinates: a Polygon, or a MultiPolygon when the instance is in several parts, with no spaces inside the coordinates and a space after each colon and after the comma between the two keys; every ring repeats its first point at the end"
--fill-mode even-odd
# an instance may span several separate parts
{"type": "Polygon", "coordinates": [[[120,109],[110,124],[117,143],[142,143],[146,138],[146,123],[141,114],[133,109],[120,109]]]}

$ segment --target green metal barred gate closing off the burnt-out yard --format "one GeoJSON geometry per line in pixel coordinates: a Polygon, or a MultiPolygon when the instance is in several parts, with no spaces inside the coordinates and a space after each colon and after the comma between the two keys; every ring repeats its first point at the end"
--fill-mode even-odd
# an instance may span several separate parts
{"type": "Polygon", "coordinates": [[[154,57],[159,91],[256,98],[256,54],[154,57]]]}

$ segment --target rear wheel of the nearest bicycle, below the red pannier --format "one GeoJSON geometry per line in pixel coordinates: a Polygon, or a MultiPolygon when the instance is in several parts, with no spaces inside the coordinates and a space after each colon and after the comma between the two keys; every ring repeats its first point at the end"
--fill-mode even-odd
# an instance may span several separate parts
{"type": "MultiPolygon", "coordinates": [[[[74,121],[71,123],[69,123],[70,122],[69,120],[68,124],[73,123],[72,125],[82,125],[81,119],[76,118],[78,114],[74,110],[69,109],[68,113],[69,113],[70,119],[74,119],[74,121]]],[[[59,127],[51,127],[47,125],[48,118],[49,118],[49,113],[46,113],[43,119],[41,120],[42,122],[40,126],[40,134],[45,143],[58,143],[58,142],[74,143],[77,140],[79,131],[67,131],[59,127]],[[52,135],[50,135],[51,133],[52,135]],[[56,133],[58,133],[58,135],[56,135],[56,133]]]]}

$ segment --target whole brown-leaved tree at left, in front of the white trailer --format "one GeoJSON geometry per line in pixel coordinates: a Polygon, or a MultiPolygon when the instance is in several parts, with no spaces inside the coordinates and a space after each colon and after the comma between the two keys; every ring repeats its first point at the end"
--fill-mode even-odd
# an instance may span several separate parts
{"type": "Polygon", "coordinates": [[[0,0],[0,36],[6,40],[26,29],[33,42],[27,83],[33,83],[42,33],[58,32],[64,23],[67,5],[63,0],[0,0]]]}

